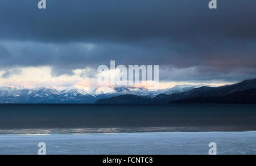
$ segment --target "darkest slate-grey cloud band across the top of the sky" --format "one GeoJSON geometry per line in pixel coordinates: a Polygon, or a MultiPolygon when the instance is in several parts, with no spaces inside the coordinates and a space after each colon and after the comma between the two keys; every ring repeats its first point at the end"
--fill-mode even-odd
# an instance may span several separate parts
{"type": "MultiPolygon", "coordinates": [[[[255,39],[255,1],[209,0],[35,0],[1,1],[1,38],[39,41],[232,37],[255,39]],[[38,1],[39,2],[39,1],[38,1]]],[[[196,44],[196,43],[195,43],[196,44]]]]}

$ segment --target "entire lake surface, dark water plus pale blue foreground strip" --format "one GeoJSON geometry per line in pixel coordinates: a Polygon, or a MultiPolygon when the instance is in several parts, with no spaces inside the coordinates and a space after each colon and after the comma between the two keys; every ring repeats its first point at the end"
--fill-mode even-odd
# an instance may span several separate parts
{"type": "Polygon", "coordinates": [[[255,105],[0,104],[0,154],[256,154],[255,130],[255,105]]]}

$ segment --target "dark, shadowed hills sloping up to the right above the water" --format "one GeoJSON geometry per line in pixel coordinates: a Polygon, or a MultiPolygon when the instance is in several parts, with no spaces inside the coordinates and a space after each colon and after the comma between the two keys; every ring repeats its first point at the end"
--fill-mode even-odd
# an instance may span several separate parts
{"type": "Polygon", "coordinates": [[[168,104],[168,103],[229,103],[256,104],[256,78],[221,86],[193,88],[187,92],[166,95],[161,93],[152,99],[135,95],[122,95],[97,100],[97,104],[168,104]],[[137,102],[138,99],[138,102],[137,102]],[[185,99],[185,100],[183,100],[185,99]]]}

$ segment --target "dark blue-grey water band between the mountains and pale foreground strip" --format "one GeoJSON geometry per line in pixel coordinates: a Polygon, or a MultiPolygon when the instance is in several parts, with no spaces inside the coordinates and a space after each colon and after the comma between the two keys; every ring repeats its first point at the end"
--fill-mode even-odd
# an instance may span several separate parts
{"type": "Polygon", "coordinates": [[[0,104],[0,134],[248,130],[255,105],[0,104]]]}

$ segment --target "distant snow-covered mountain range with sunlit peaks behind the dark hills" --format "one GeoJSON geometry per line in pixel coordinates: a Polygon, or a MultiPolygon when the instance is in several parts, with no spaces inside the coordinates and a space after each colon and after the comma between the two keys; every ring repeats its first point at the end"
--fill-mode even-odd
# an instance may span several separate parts
{"type": "Polygon", "coordinates": [[[98,99],[105,99],[119,95],[137,95],[155,97],[160,93],[170,95],[192,90],[198,86],[179,85],[158,91],[148,91],[144,87],[0,87],[0,103],[94,103],[98,99]]]}

